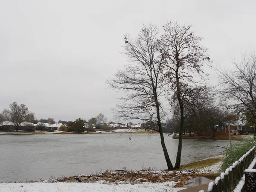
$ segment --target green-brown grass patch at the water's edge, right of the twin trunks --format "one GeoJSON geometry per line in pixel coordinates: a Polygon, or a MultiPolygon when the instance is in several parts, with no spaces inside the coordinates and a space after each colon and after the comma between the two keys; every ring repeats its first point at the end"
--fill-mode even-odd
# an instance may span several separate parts
{"type": "Polygon", "coordinates": [[[215,163],[220,162],[221,160],[222,160],[221,158],[211,158],[211,159],[196,161],[196,162],[192,162],[192,163],[186,164],[184,166],[180,166],[179,170],[201,169],[201,168],[204,168],[204,167],[212,166],[215,163]]]}

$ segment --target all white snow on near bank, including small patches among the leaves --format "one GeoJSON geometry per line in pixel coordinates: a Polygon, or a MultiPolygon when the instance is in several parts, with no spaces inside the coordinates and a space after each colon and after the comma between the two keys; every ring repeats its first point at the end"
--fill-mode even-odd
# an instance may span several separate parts
{"type": "MultiPolygon", "coordinates": [[[[212,173],[217,172],[220,163],[199,169],[195,173],[212,173]]],[[[118,173],[118,172],[117,172],[118,173]]],[[[143,174],[153,173],[154,175],[172,174],[173,171],[145,171],[143,174]]],[[[180,171],[179,174],[191,173],[191,170],[180,171]]],[[[83,175],[80,175],[83,176],[83,175]]],[[[79,177],[80,177],[79,176],[79,177]]],[[[160,176],[162,177],[162,176],[160,176]]],[[[47,181],[45,181],[47,182],[47,181]]],[[[174,188],[177,184],[175,181],[167,181],[163,183],[136,183],[119,181],[118,183],[109,183],[105,180],[98,180],[96,183],[0,183],[0,192],[178,192],[185,188],[174,188]],[[122,184],[123,183],[123,184],[122,184]]],[[[50,181],[48,181],[50,182],[50,181]]]]}

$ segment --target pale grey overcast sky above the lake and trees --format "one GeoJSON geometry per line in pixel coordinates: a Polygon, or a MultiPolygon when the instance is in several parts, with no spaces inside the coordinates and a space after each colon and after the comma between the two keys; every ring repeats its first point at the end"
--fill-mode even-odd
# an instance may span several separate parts
{"type": "Polygon", "coordinates": [[[0,111],[17,101],[38,119],[111,120],[118,93],[105,79],[127,63],[123,34],[136,37],[149,22],[192,24],[214,64],[230,68],[255,51],[255,8],[255,0],[0,0],[0,111]]]}

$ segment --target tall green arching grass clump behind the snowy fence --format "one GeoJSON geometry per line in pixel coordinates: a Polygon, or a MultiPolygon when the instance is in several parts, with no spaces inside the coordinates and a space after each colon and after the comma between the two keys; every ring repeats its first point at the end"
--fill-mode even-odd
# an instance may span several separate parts
{"type": "Polygon", "coordinates": [[[232,143],[232,148],[225,147],[225,153],[222,160],[220,172],[225,172],[227,168],[239,160],[247,151],[256,145],[256,140],[245,140],[237,143],[232,143]]]}

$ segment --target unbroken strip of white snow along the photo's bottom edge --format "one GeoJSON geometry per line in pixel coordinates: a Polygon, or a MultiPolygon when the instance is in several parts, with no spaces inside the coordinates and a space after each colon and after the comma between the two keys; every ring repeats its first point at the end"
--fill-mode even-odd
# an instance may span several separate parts
{"type": "Polygon", "coordinates": [[[0,183],[1,192],[178,192],[175,182],[140,184],[101,183],[0,183]]]}

